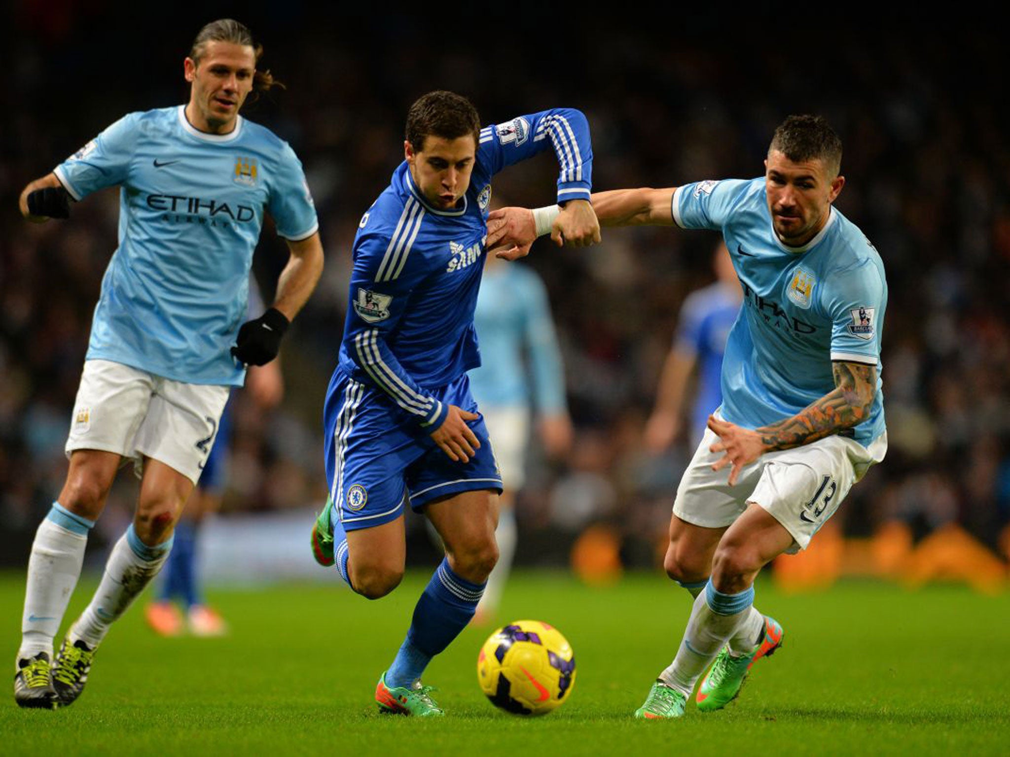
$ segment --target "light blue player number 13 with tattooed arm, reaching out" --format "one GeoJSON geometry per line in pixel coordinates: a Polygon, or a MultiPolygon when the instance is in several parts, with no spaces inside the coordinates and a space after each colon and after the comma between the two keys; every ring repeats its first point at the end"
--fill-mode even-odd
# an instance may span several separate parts
{"type": "MultiPolygon", "coordinates": [[[[832,207],[841,141],[817,116],[777,129],[765,176],[593,195],[601,224],[721,231],[743,288],[726,345],[722,405],[681,480],[665,567],[696,599],[677,656],[636,718],[679,718],[733,699],[782,627],[753,607],[753,580],[805,548],[887,451],[881,393],[884,265],[832,207]],[[725,469],[729,468],[728,480],[725,469]],[[714,659],[714,662],[713,662],[714,659]]],[[[489,244],[522,254],[529,211],[496,211],[489,244]]]]}

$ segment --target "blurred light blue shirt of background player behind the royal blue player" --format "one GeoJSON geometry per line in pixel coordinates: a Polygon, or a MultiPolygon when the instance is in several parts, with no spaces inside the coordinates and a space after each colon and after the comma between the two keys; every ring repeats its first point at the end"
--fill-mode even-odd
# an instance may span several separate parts
{"type": "Polygon", "coordinates": [[[561,349],[540,278],[521,263],[490,263],[477,294],[474,326],[481,365],[470,371],[477,404],[565,413],[561,349]]]}

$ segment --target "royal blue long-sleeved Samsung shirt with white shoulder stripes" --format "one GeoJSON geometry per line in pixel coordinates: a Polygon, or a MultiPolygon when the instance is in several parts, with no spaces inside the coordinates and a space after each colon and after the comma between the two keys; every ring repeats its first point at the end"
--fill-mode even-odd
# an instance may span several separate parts
{"type": "Polygon", "coordinates": [[[558,201],[589,200],[589,125],[580,111],[557,108],[482,129],[456,208],[428,205],[402,163],[359,224],[336,369],[384,393],[423,428],[437,428],[448,410],[432,390],[481,362],[474,308],[491,178],[546,149],[561,168],[558,201]]]}

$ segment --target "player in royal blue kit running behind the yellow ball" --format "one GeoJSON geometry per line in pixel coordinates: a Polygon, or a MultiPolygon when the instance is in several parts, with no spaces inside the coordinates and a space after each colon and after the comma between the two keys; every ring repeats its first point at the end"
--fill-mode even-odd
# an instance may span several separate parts
{"type": "Polygon", "coordinates": [[[376,687],[384,713],[443,715],[421,674],[473,618],[498,557],[501,477],[467,377],[480,364],[474,308],[491,178],[548,147],[565,207],[544,213],[542,230],[573,245],[598,241],[582,113],[560,108],[482,129],[470,101],[443,91],[411,106],[406,159],[359,224],[323,411],[330,491],[312,529],[313,554],[378,599],[403,577],[408,503],[445,546],[376,687]]]}

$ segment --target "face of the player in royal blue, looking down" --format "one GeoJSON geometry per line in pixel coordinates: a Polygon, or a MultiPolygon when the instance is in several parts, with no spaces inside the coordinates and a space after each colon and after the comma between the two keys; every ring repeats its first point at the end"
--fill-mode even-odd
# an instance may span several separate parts
{"type": "Polygon", "coordinates": [[[410,142],[403,143],[414,184],[429,205],[448,210],[460,202],[470,188],[470,175],[477,160],[477,139],[473,134],[443,139],[428,135],[417,151],[410,142]]]}

